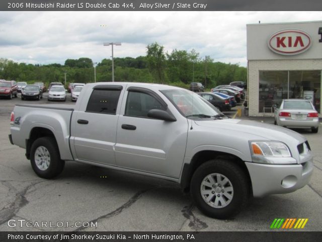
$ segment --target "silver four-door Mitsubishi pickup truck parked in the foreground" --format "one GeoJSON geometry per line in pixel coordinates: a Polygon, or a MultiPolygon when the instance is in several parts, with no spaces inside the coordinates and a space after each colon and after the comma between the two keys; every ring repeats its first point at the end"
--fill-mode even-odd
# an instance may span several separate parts
{"type": "Polygon", "coordinates": [[[221,219],[251,196],[304,187],[313,170],[302,135],[224,118],[199,95],[158,84],[93,83],[75,105],[16,105],[9,138],[40,177],[77,161],[164,178],[221,219]]]}

